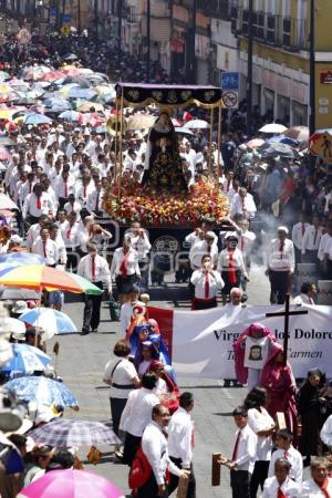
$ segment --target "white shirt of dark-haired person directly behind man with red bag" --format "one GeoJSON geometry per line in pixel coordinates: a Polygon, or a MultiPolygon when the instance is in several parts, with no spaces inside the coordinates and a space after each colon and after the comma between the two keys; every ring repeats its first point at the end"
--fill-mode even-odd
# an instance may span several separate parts
{"type": "Polygon", "coordinates": [[[120,429],[142,437],[145,427],[151,422],[152,409],[158,404],[159,398],[152,391],[145,387],[132,391],[121,416],[120,429]]]}

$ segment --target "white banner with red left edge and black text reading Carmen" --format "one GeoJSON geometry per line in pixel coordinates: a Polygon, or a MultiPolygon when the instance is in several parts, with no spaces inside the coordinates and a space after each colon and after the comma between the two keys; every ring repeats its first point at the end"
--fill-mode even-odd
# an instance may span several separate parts
{"type": "MultiPolygon", "coordinates": [[[[284,318],[266,318],[282,307],[234,307],[205,311],[149,308],[172,351],[178,375],[235,378],[232,344],[250,323],[272,329],[283,342],[284,318]]],[[[288,360],[297,377],[319,367],[332,376],[332,307],[291,307],[308,314],[290,317],[288,360]]]]}

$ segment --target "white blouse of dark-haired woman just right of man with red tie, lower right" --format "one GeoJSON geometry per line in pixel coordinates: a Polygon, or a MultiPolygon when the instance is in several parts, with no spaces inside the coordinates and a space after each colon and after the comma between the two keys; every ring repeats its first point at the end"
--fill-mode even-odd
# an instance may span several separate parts
{"type": "Polygon", "coordinates": [[[258,436],[257,433],[268,430],[274,425],[273,418],[268,414],[266,408],[261,407],[248,409],[248,425],[257,435],[257,460],[269,460],[272,452],[272,437],[258,436]]]}

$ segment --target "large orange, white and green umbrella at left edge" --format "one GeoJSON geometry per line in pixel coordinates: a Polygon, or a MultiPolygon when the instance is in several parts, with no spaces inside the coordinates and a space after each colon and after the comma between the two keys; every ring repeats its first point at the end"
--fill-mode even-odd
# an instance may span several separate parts
{"type": "Polygon", "coordinates": [[[6,274],[0,277],[0,286],[22,287],[33,290],[46,289],[48,291],[66,290],[79,294],[94,295],[100,295],[103,292],[83,277],[42,264],[9,269],[6,274]]]}

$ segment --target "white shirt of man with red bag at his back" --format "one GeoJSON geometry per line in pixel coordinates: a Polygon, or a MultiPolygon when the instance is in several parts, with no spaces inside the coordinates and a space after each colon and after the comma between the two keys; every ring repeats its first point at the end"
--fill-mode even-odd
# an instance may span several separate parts
{"type": "Polygon", "coordinates": [[[172,474],[181,475],[181,470],[169,459],[167,439],[162,427],[155,422],[149,422],[142,437],[142,449],[152,466],[157,485],[165,484],[166,468],[172,474]]]}

